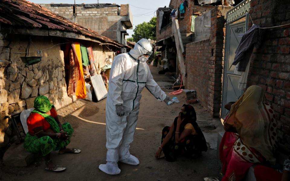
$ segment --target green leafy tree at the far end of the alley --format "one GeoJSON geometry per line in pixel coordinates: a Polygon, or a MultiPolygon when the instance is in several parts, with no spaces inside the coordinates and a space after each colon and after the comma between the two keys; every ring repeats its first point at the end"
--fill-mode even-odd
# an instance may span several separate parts
{"type": "Polygon", "coordinates": [[[152,17],[149,22],[138,24],[133,32],[132,37],[134,42],[142,38],[156,40],[156,17],[152,17]]]}

